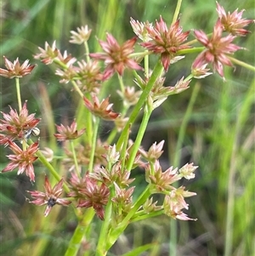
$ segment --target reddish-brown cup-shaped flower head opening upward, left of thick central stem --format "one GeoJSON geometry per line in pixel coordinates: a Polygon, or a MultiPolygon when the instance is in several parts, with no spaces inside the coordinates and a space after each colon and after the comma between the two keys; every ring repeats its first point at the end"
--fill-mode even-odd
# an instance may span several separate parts
{"type": "Polygon", "coordinates": [[[111,111],[113,104],[109,104],[109,97],[102,100],[101,103],[99,103],[99,98],[95,95],[93,96],[93,102],[90,102],[86,97],[83,97],[83,100],[88,110],[97,117],[112,121],[119,116],[118,113],[111,111]]]}

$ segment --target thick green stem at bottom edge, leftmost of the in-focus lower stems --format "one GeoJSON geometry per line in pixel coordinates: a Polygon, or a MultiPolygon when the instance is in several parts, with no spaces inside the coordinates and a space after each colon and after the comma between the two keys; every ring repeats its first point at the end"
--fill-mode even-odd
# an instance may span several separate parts
{"type": "Polygon", "coordinates": [[[81,247],[82,238],[90,229],[91,222],[94,218],[94,209],[88,208],[86,213],[82,217],[82,220],[77,225],[73,236],[68,244],[68,248],[65,252],[65,256],[76,256],[79,248],[81,247]]]}

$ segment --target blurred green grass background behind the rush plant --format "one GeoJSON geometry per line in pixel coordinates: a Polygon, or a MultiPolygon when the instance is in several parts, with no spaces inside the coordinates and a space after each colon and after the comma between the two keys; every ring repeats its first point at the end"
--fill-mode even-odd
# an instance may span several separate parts
{"type": "MultiPolygon", "coordinates": [[[[218,2],[230,12],[236,8],[246,9],[243,16],[254,19],[253,0],[218,2]]],[[[59,84],[54,69],[33,60],[37,47],[44,48],[45,41],[51,45],[56,40],[61,52],[67,49],[81,60],[84,58],[83,48],[69,43],[71,30],[85,25],[92,28],[88,44],[94,52],[100,49],[95,37],[105,39],[105,31],[111,32],[119,42],[133,37],[130,17],[154,22],[161,15],[170,24],[176,5],[173,0],[2,0],[0,3],[0,55],[12,61],[19,57],[21,62],[29,59],[32,64],[37,63],[37,68],[20,83],[22,100],[28,100],[31,112],[42,117],[45,141],[50,140],[48,116],[51,113],[43,108],[45,97],[49,97],[54,122],[59,123],[64,113],[71,119],[76,105],[70,87],[59,84]]],[[[211,32],[218,17],[215,8],[212,0],[183,1],[181,26],[184,31],[202,29],[211,32]]],[[[254,65],[254,25],[248,29],[252,33],[236,41],[246,50],[237,52],[235,57],[254,65]]],[[[189,38],[193,39],[192,32],[189,38]]],[[[195,54],[171,66],[166,85],[173,85],[180,77],[187,76],[193,60],[195,54]]],[[[2,57],[0,64],[3,68],[2,57]]],[[[180,256],[255,255],[254,73],[238,65],[235,70],[225,68],[224,72],[226,82],[214,75],[191,82],[189,90],[171,96],[152,115],[143,141],[144,148],[148,149],[155,141],[165,139],[161,162],[166,168],[178,159],[179,165],[195,162],[199,166],[195,180],[184,183],[189,191],[197,193],[188,200],[190,209],[187,213],[198,220],[177,221],[177,255],[180,256]],[[190,103],[191,95],[195,100],[193,104],[190,103]],[[188,105],[190,112],[186,111],[188,105]],[[184,136],[180,135],[181,128],[184,136]],[[180,145],[178,150],[177,144],[180,145]]],[[[133,85],[132,77],[127,77],[126,81],[133,85]]],[[[0,85],[1,111],[8,111],[8,105],[16,108],[14,80],[1,77],[0,85]]],[[[114,98],[113,88],[113,84],[111,88],[108,86],[105,94],[111,92],[114,98]]],[[[0,161],[3,169],[7,164],[3,147],[0,161]]],[[[138,173],[138,193],[139,182],[143,186],[142,179],[138,173]]],[[[16,176],[15,171],[1,174],[0,182],[0,254],[63,255],[76,225],[71,210],[54,209],[54,214],[45,221],[43,208],[35,208],[26,202],[26,190],[33,187],[25,175],[16,176]],[[43,229],[38,230],[38,226],[43,229]]],[[[91,227],[95,241],[98,230],[99,224],[91,227]]],[[[170,236],[170,219],[167,217],[141,221],[128,227],[109,255],[122,255],[147,242],[155,242],[156,246],[143,255],[168,255],[170,236]]],[[[83,246],[87,246],[86,242],[83,246]]]]}

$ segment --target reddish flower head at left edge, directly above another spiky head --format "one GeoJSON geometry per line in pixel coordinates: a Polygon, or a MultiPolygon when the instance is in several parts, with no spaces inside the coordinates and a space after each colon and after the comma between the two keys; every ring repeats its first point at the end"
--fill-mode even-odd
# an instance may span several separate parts
{"type": "Polygon", "coordinates": [[[41,119],[35,118],[35,114],[28,115],[26,102],[22,106],[20,115],[16,110],[10,107],[9,114],[3,113],[3,119],[0,119],[0,131],[6,134],[10,140],[26,139],[26,134],[35,128],[41,119]]]}

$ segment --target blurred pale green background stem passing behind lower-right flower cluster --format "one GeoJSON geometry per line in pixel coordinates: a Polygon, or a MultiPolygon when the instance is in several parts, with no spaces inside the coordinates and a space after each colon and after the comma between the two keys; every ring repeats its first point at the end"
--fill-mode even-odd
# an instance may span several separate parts
{"type": "MultiPolygon", "coordinates": [[[[180,162],[180,156],[181,156],[181,145],[184,141],[184,135],[185,135],[185,131],[187,128],[187,124],[189,122],[190,119],[190,115],[193,109],[193,105],[195,104],[195,100],[197,97],[197,94],[199,92],[200,89],[200,84],[196,83],[195,84],[195,88],[192,91],[191,97],[190,97],[190,101],[189,101],[189,105],[187,107],[187,110],[185,112],[184,115],[184,119],[183,122],[181,124],[179,133],[178,133],[178,140],[177,140],[177,145],[176,145],[176,153],[174,156],[174,160],[173,160],[173,166],[177,167],[179,165],[180,162]]],[[[176,256],[177,255],[177,222],[175,219],[171,219],[171,224],[170,224],[170,241],[169,241],[169,256],[176,256]]]]}

